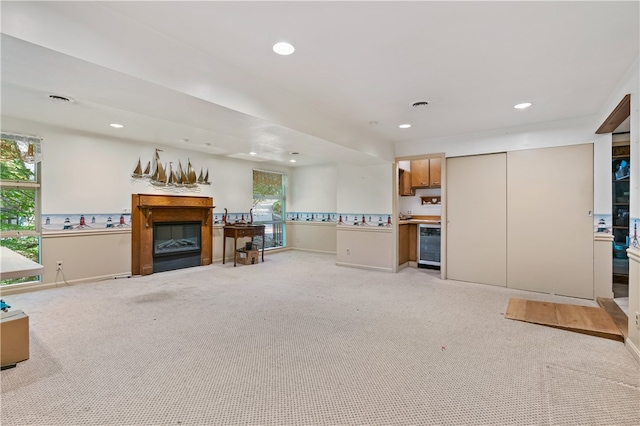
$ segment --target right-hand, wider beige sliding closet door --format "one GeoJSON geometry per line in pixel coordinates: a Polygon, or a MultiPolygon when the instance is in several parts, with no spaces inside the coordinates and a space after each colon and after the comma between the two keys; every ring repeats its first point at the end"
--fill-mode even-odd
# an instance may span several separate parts
{"type": "Polygon", "coordinates": [[[508,286],[593,299],[593,145],[509,152],[507,182],[508,286]]]}

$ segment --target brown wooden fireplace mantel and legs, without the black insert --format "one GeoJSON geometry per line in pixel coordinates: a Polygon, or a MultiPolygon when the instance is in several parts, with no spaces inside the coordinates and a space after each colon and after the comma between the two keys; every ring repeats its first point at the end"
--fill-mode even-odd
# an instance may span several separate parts
{"type": "Polygon", "coordinates": [[[131,273],[153,274],[153,224],[196,222],[201,228],[201,265],[213,261],[213,198],[179,195],[131,195],[131,273]]]}

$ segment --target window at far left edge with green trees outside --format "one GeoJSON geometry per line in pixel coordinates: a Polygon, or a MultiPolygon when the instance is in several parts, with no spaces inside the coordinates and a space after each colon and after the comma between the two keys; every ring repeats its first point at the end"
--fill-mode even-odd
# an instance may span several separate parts
{"type": "Polygon", "coordinates": [[[0,245],[40,263],[40,139],[2,133],[0,157],[0,245]]]}

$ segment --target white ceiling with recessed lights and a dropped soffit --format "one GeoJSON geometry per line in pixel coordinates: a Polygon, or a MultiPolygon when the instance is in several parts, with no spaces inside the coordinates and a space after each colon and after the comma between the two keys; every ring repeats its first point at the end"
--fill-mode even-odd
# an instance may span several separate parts
{"type": "Polygon", "coordinates": [[[397,142],[599,113],[638,58],[638,5],[2,1],[2,130],[380,164],[397,142]]]}

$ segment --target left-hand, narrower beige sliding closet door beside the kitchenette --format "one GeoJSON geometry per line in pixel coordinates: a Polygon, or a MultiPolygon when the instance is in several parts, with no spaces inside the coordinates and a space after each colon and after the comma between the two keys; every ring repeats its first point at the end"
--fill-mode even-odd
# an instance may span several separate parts
{"type": "Polygon", "coordinates": [[[447,158],[447,278],[506,286],[506,154],[447,158]]]}

